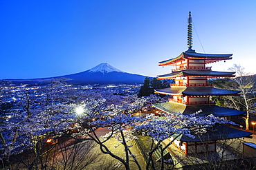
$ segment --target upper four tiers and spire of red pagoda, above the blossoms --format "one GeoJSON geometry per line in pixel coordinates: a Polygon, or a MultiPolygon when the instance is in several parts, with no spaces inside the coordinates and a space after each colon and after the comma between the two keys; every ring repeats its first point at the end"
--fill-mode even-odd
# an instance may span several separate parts
{"type": "Polygon", "coordinates": [[[202,54],[192,50],[192,18],[188,18],[188,50],[174,59],[159,62],[159,66],[175,66],[170,74],[158,76],[158,79],[174,79],[171,87],[155,89],[158,94],[172,96],[168,103],[155,103],[154,107],[169,114],[192,114],[196,111],[202,115],[235,116],[244,114],[218,107],[210,101],[210,96],[237,95],[239,91],[217,89],[208,83],[208,78],[234,77],[235,72],[212,71],[207,64],[232,59],[232,54],[202,54]]]}

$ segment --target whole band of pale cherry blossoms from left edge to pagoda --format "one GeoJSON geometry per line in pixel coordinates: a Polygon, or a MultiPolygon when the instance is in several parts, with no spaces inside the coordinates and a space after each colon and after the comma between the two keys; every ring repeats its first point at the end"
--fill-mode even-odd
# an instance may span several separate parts
{"type": "Polygon", "coordinates": [[[40,100],[33,94],[24,94],[24,98],[19,100],[20,107],[13,108],[12,117],[8,119],[6,125],[0,127],[5,137],[1,142],[1,158],[26,149],[35,149],[37,142],[48,136],[57,138],[64,134],[72,134],[73,138],[79,140],[94,140],[100,145],[102,153],[116,158],[127,168],[129,158],[136,162],[136,157],[129,150],[131,145],[127,145],[127,142],[136,138],[133,131],[140,131],[161,142],[173,134],[194,138],[191,135],[192,131],[205,133],[207,128],[215,123],[228,123],[214,116],[199,117],[196,114],[162,114],[161,117],[148,115],[145,118],[133,116],[141,108],[155,102],[163,102],[163,99],[154,95],[144,98],[135,95],[117,96],[99,90],[72,93],[62,92],[60,89],[58,93],[51,90],[48,98],[40,100]],[[51,102],[44,101],[50,99],[51,102]],[[64,104],[60,104],[60,101],[64,104]],[[74,104],[75,102],[77,104],[74,104]],[[76,114],[77,108],[80,108],[80,114],[76,114]],[[98,127],[108,127],[109,134],[99,138],[95,134],[98,127]],[[126,158],[114,155],[104,145],[104,142],[112,137],[118,141],[115,147],[125,147],[126,158]]]}

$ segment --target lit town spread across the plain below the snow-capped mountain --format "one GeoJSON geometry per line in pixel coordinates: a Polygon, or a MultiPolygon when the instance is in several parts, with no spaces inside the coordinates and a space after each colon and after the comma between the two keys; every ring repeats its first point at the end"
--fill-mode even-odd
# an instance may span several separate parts
{"type": "MultiPolygon", "coordinates": [[[[65,96],[68,94],[79,94],[80,92],[110,92],[111,94],[126,96],[132,94],[138,94],[141,85],[65,85],[57,87],[51,90],[47,85],[6,85],[3,88],[3,92],[0,96],[0,121],[8,121],[10,118],[10,109],[12,111],[20,111],[24,109],[22,107],[21,101],[26,100],[28,97],[31,100],[31,105],[35,108],[46,100],[46,93],[52,93],[52,101],[57,103],[64,103],[66,101],[61,100],[57,96],[65,96]],[[72,93],[71,93],[72,92],[72,93]],[[59,99],[57,99],[59,98],[59,99]]],[[[65,98],[65,97],[63,97],[65,98]]]]}

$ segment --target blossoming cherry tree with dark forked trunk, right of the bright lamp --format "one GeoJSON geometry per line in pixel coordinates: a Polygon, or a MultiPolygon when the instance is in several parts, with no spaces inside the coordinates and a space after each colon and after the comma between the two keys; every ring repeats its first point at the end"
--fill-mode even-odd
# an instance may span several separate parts
{"type": "Polygon", "coordinates": [[[102,151],[102,153],[109,154],[109,156],[119,160],[126,169],[129,169],[129,158],[132,157],[132,161],[134,161],[138,169],[140,169],[140,165],[136,158],[132,156],[129,149],[131,146],[127,145],[127,142],[133,139],[128,129],[135,126],[136,123],[143,121],[141,117],[131,116],[131,114],[138,111],[143,106],[143,101],[145,101],[144,98],[140,100],[130,100],[129,102],[124,101],[123,105],[107,105],[104,99],[82,103],[80,107],[82,107],[84,111],[77,116],[78,121],[74,126],[76,129],[79,129],[79,131],[74,133],[73,137],[80,140],[82,138],[82,140],[95,141],[100,145],[100,151],[102,151]],[[100,138],[95,132],[95,127],[108,127],[110,132],[100,138]],[[112,137],[115,137],[125,148],[125,159],[113,154],[107,145],[105,145],[105,142],[112,137]]]}

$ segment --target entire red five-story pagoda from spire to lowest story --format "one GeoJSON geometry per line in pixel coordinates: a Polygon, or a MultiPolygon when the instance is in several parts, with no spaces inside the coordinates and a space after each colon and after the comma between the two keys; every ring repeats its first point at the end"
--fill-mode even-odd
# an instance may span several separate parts
{"type": "MultiPolygon", "coordinates": [[[[192,18],[190,12],[188,18],[188,50],[173,59],[159,62],[159,66],[175,66],[171,73],[157,76],[158,79],[174,79],[174,83],[165,89],[155,89],[157,94],[169,95],[170,99],[166,103],[154,103],[153,106],[167,114],[197,113],[199,116],[212,114],[227,118],[245,114],[246,111],[219,107],[210,100],[212,96],[230,96],[239,93],[239,91],[217,89],[208,83],[208,78],[235,76],[235,72],[212,71],[212,67],[207,66],[207,64],[217,61],[230,60],[232,59],[231,56],[232,54],[203,54],[192,50],[192,18]]],[[[216,125],[205,136],[196,136],[194,139],[180,136],[175,140],[174,145],[185,155],[204,153],[205,151],[214,152],[218,140],[241,138],[250,134],[252,133],[224,125],[216,125]]]]}

